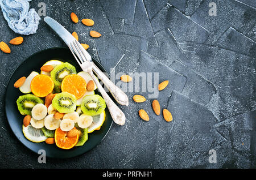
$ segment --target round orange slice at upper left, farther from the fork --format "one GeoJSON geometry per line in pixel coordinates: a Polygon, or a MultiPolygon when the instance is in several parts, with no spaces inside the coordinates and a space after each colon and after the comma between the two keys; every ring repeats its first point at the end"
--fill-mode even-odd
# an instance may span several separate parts
{"type": "Polygon", "coordinates": [[[53,80],[50,76],[39,74],[31,80],[31,92],[38,97],[46,97],[54,88],[53,80]]]}

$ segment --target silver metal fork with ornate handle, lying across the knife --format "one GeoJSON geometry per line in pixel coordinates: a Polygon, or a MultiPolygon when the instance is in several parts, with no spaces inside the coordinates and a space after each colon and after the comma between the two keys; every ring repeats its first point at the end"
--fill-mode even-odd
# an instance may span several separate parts
{"type": "Polygon", "coordinates": [[[80,67],[83,71],[88,72],[90,76],[92,76],[93,81],[96,83],[98,90],[100,91],[102,97],[104,98],[106,105],[108,106],[109,113],[113,118],[113,121],[118,125],[125,124],[125,114],[123,114],[122,110],[118,108],[118,106],[113,102],[113,100],[109,97],[108,93],[101,86],[100,82],[98,82],[96,76],[92,71],[92,62],[87,61],[86,53],[83,51],[83,47],[77,40],[74,40],[68,45],[72,54],[74,55],[77,63],[79,63],[80,67]],[[78,57],[78,58],[77,58],[78,57]]]}

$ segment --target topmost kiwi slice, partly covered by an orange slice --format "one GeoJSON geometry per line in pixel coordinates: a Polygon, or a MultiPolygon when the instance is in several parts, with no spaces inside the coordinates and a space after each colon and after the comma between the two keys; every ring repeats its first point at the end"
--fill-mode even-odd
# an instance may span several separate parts
{"type": "Polygon", "coordinates": [[[65,62],[53,68],[51,78],[55,85],[60,86],[62,80],[69,74],[76,74],[76,68],[68,62],[65,62]]]}

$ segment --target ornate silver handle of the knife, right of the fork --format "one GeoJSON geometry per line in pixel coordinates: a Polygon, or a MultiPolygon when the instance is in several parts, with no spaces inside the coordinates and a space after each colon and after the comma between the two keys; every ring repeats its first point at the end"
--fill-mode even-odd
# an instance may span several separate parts
{"type": "Polygon", "coordinates": [[[126,93],[119,89],[93,62],[93,72],[101,79],[105,86],[109,89],[114,99],[121,105],[129,105],[129,98],[126,93]]]}

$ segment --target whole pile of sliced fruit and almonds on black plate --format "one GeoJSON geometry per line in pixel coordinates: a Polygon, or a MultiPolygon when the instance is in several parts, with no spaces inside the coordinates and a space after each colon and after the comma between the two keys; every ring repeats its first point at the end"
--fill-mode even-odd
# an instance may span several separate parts
{"type": "Polygon", "coordinates": [[[76,72],[68,62],[51,60],[18,79],[24,93],[16,101],[24,115],[22,131],[31,142],[56,144],[62,149],[84,145],[88,134],[105,121],[105,100],[88,72],[76,72]]]}

